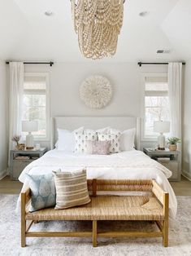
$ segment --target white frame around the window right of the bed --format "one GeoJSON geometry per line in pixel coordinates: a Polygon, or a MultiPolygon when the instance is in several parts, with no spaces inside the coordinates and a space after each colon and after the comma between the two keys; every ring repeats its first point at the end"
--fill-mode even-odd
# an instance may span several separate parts
{"type": "MultiPolygon", "coordinates": [[[[156,142],[158,135],[146,136],[145,135],[145,77],[167,77],[167,73],[141,73],[141,141],[156,142]]],[[[154,96],[158,90],[150,91],[147,95],[154,96]]],[[[167,95],[167,91],[158,92],[158,96],[167,95]]]]}

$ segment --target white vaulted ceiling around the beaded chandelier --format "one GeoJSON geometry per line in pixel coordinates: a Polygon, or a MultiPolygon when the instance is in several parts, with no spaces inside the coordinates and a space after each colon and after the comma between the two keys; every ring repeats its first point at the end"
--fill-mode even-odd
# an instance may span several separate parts
{"type": "MultiPolygon", "coordinates": [[[[191,59],[190,13],[191,0],[126,0],[117,53],[104,61],[191,59]],[[158,49],[171,54],[157,55],[158,49]]],[[[70,1],[0,0],[0,59],[88,61],[80,55],[70,1]]]]}

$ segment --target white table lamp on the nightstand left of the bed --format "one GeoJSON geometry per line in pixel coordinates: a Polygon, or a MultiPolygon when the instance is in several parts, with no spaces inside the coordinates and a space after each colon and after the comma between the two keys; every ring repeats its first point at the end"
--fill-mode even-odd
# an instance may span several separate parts
{"type": "Polygon", "coordinates": [[[34,137],[32,135],[32,132],[38,130],[38,122],[37,121],[22,121],[22,130],[28,131],[28,135],[26,136],[26,149],[33,149],[34,148],[34,137]]]}

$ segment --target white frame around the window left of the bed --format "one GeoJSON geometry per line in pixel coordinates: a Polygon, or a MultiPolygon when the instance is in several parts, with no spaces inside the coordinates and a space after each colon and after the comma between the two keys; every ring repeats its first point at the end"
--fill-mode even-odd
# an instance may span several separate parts
{"type": "MultiPolygon", "coordinates": [[[[50,141],[50,75],[49,73],[24,73],[24,77],[46,77],[46,137],[38,137],[37,135],[34,136],[34,141],[50,141]]],[[[38,94],[43,94],[41,91],[33,90],[38,92],[38,94]]],[[[24,139],[25,136],[24,136],[24,139]]]]}

